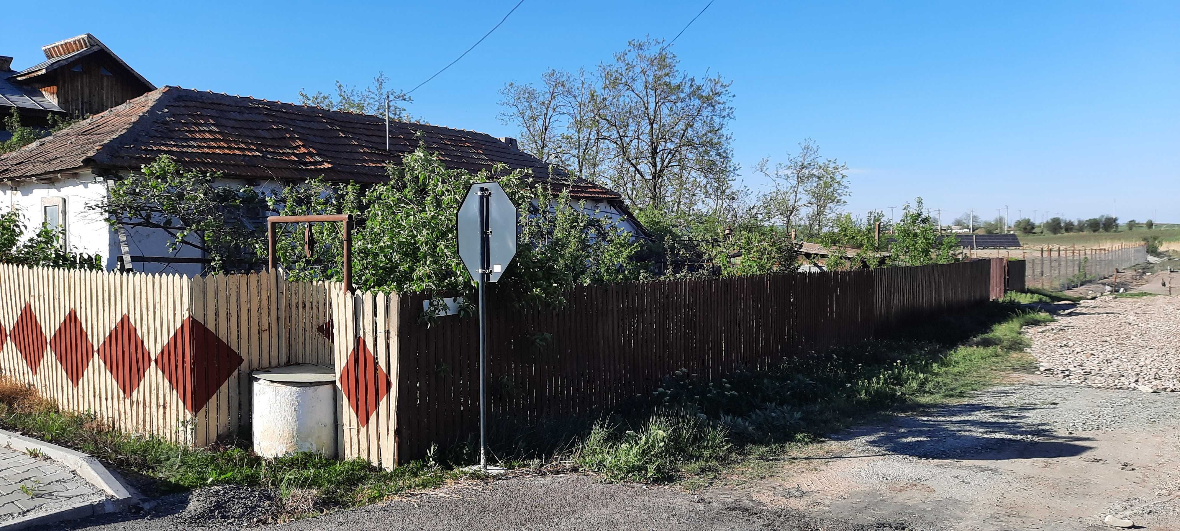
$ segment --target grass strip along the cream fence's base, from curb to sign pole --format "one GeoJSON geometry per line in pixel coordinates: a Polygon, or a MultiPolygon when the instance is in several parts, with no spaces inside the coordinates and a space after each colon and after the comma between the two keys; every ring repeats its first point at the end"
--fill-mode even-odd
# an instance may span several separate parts
{"type": "Polygon", "coordinates": [[[88,453],[142,477],[148,480],[148,494],[221,484],[268,487],[283,498],[287,518],[381,502],[463,476],[421,461],[386,471],[362,459],[339,461],[317,453],[263,459],[244,442],[186,448],[110,430],[88,414],[61,411],[7,378],[0,378],[0,426],[88,453]]]}

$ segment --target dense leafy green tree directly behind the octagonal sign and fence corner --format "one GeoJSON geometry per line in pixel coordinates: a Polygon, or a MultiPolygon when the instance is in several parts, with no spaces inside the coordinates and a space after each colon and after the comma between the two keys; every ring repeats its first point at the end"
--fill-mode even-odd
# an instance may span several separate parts
{"type": "MultiPolygon", "coordinates": [[[[569,192],[556,195],[522,170],[496,166],[472,173],[447,169],[424,149],[391,166],[389,181],[361,192],[355,184],[312,182],[271,198],[289,215],[354,214],[354,282],[365,289],[470,295],[472,278],[459,260],[454,215],[471,184],[496,181],[520,205],[520,245],[497,289],[520,302],[559,301],[573,286],[638,277],[638,243],[607,216],[583,211],[569,192]]],[[[283,240],[280,258],[293,278],[340,280],[340,236],[314,232],[313,257],[301,237],[283,240]]],[[[299,234],[293,235],[299,236],[299,234]]]]}

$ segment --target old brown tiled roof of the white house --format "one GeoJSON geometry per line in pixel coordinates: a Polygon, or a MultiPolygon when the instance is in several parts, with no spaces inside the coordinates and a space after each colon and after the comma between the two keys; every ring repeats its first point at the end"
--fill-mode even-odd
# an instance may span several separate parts
{"type": "Polygon", "coordinates": [[[621,202],[614,190],[573,179],[486,133],[391,122],[320,107],[166,86],[81,120],[53,136],[0,156],[0,181],[98,166],[138,170],[159,155],[183,168],[225,176],[375,183],[387,160],[426,149],[447,168],[481,170],[494,163],[532,170],[576,198],[621,202]]]}

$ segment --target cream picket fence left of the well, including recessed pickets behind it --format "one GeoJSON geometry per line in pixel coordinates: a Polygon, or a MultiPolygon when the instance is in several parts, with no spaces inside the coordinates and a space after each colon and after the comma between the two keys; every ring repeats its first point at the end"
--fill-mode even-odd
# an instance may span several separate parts
{"type": "Polygon", "coordinates": [[[203,446],[250,422],[250,371],[333,363],[339,283],[0,264],[0,372],[63,408],[203,446]]]}

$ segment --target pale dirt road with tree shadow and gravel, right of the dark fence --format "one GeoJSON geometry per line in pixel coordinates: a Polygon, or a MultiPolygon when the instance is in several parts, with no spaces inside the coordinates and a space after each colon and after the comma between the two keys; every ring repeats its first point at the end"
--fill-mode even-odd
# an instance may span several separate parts
{"type": "Polygon", "coordinates": [[[769,506],[916,529],[1080,530],[1116,514],[1180,530],[1180,396],[1136,391],[1176,376],[1161,356],[1180,336],[1161,330],[1180,324],[1178,302],[1087,301],[1027,330],[1042,367],[1071,372],[852,430],[748,490],[769,506]]]}

